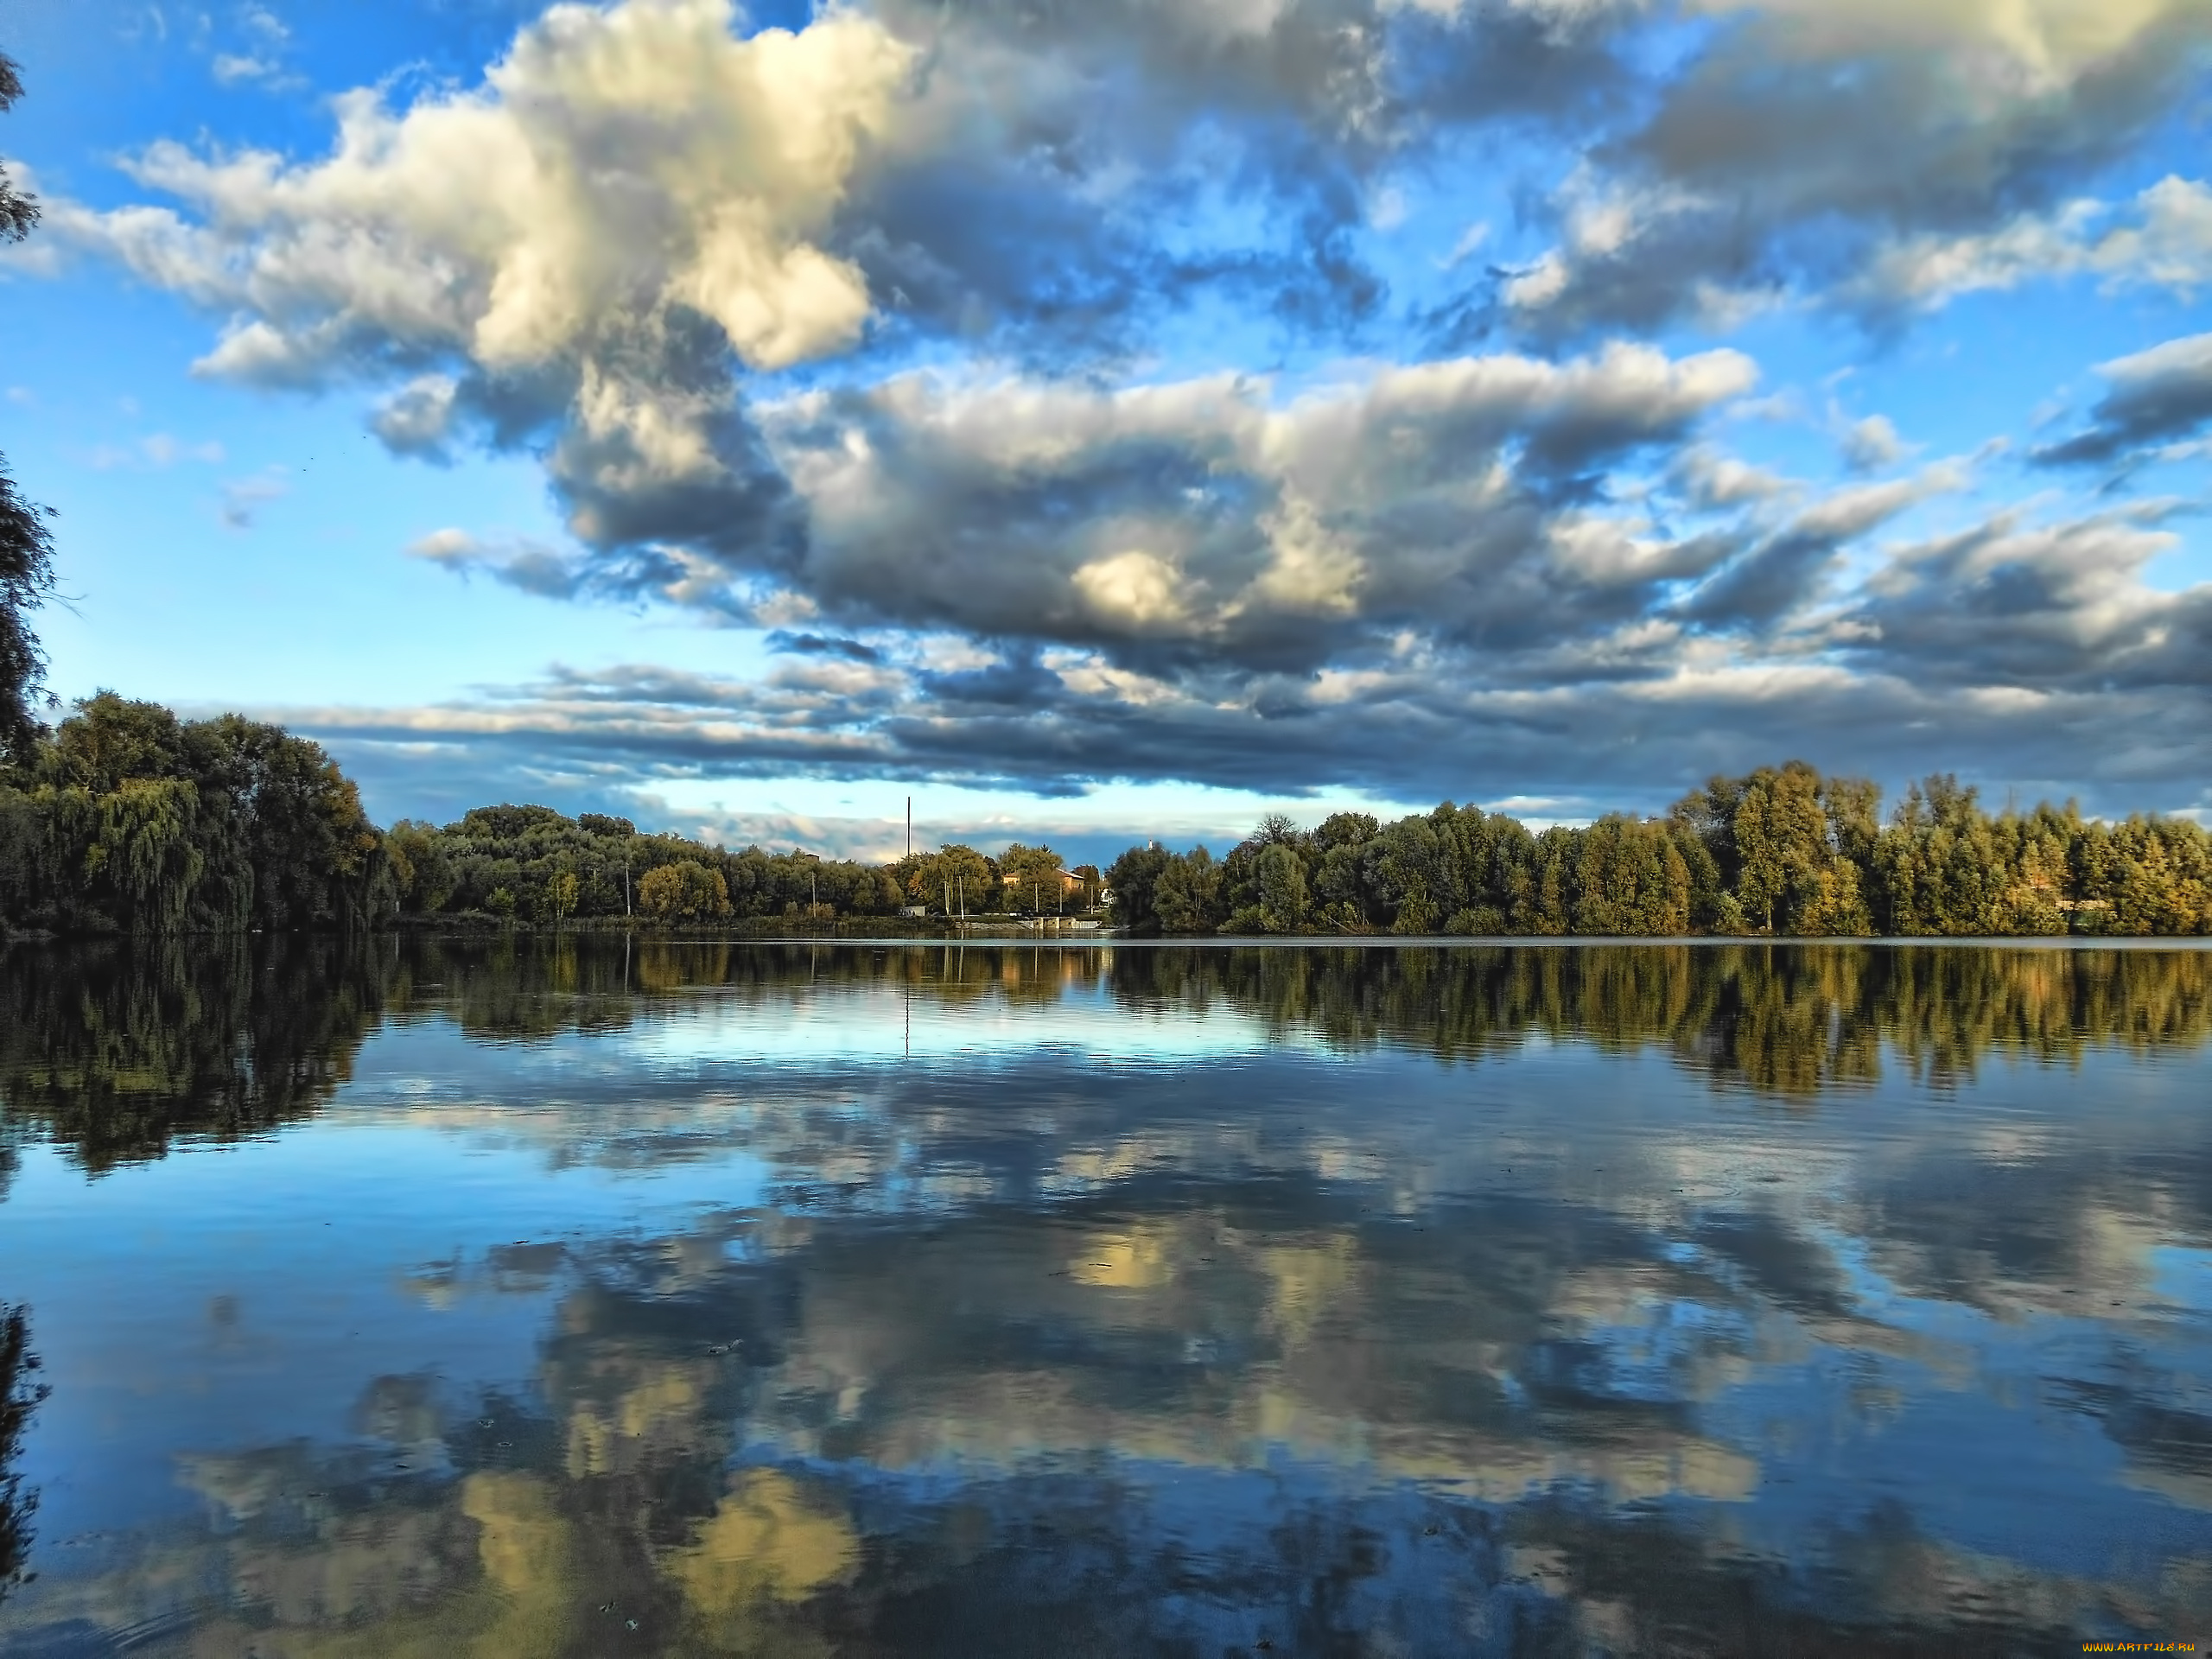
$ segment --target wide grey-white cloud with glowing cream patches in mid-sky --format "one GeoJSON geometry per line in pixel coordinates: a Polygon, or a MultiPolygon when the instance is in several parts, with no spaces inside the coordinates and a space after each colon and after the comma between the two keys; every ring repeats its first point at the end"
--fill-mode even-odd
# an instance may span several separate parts
{"type": "Polygon", "coordinates": [[[1590,476],[1752,387],[1734,352],[1615,345],[1387,367],[1274,403],[1237,376],[1102,392],[900,376],[763,407],[832,615],[1316,668],[1418,626],[1577,630],[1663,575],[1557,557],[1590,476]]]}

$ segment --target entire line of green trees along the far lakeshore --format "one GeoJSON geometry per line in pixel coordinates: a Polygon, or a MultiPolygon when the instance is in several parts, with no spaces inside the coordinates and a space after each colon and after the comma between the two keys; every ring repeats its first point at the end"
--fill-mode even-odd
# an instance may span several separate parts
{"type": "Polygon", "coordinates": [[[2212,933],[2212,834],[2190,821],[1993,814],[1949,776],[1880,807],[1876,785],[1790,761],[1582,827],[1444,803],[1312,830],[1270,816],[1221,856],[1152,843],[1104,872],[1020,843],[867,865],[542,805],[378,830],[307,739],[102,692],[0,770],[0,927],[874,931],[1015,914],[1135,936],[2212,933]]]}

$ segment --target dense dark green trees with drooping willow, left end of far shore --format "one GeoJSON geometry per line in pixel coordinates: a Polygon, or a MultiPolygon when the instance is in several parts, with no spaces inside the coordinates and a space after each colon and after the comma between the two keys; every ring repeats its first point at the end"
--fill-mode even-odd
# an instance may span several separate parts
{"type": "Polygon", "coordinates": [[[0,783],[0,925],[60,933],[367,927],[385,841],[314,743],[100,692],[0,783]],[[20,785],[20,787],[18,787],[20,785]]]}

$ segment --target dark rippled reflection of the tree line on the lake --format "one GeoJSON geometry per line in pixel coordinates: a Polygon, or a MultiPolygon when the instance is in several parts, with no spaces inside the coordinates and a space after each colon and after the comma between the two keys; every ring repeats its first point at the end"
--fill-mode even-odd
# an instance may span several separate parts
{"type": "Polygon", "coordinates": [[[38,1133],[97,1172],[161,1157],[177,1137],[265,1133],[310,1117],[383,1022],[445,1018],[473,1037],[538,1040],[624,1029],[701,995],[796,1009],[891,991],[1046,1013],[1097,995],[1139,1013],[1219,1009],[1276,1035],[1442,1060],[1528,1037],[1657,1046],[1719,1086],[1776,1097],[1874,1082],[1885,1057],[1947,1084],[1989,1055],[2068,1062],[2212,1035],[2212,956],[2157,949],[91,942],[0,956],[0,1148],[38,1133]]]}

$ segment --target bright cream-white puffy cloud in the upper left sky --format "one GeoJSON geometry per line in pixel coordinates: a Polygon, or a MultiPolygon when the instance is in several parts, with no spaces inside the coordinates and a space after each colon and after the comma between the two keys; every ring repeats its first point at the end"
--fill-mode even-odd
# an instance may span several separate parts
{"type": "Polygon", "coordinates": [[[392,345],[487,369],[588,361],[611,321],[670,301],[754,367],[838,352],[869,296],[812,237],[887,137],[911,51],[852,11],[745,40],[732,22],[728,0],[555,7],[480,91],[338,97],[321,161],[155,144],[131,170],[192,223],[73,208],[51,230],[234,310],[206,367],[239,378],[392,345]]]}

